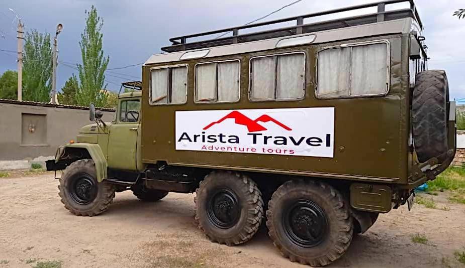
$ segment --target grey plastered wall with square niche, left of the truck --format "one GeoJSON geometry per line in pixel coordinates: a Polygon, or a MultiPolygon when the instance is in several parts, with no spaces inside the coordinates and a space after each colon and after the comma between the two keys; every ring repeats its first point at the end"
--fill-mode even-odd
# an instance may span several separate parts
{"type": "MultiPolygon", "coordinates": [[[[105,121],[114,111],[104,110],[105,121]]],[[[0,170],[29,168],[55,156],[75,140],[81,126],[92,123],[85,107],[0,100],[0,170]]]]}

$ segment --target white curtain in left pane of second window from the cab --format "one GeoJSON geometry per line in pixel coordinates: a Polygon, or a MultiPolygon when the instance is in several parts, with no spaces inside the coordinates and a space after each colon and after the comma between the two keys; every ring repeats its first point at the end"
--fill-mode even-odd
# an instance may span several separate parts
{"type": "Polygon", "coordinates": [[[196,90],[198,101],[216,100],[216,65],[217,63],[196,66],[196,90]]]}

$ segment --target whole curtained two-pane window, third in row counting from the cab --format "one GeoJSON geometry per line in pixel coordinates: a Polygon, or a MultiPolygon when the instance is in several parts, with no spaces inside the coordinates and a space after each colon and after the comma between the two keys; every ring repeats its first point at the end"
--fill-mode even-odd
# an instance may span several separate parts
{"type": "Polygon", "coordinates": [[[252,58],[251,100],[293,100],[304,97],[305,54],[252,58]]]}

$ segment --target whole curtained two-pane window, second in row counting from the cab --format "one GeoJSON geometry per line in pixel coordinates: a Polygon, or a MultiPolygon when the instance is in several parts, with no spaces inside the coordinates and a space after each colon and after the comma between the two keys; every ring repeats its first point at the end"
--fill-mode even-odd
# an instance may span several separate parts
{"type": "Polygon", "coordinates": [[[234,102],[239,100],[239,93],[239,61],[196,65],[196,102],[234,102]]]}

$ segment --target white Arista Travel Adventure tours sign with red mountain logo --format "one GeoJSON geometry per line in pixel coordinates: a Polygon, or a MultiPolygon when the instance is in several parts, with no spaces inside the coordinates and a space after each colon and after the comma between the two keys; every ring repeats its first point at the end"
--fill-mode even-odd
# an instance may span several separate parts
{"type": "Polygon", "coordinates": [[[176,150],[334,157],[334,107],[176,111],[176,150]]]}

